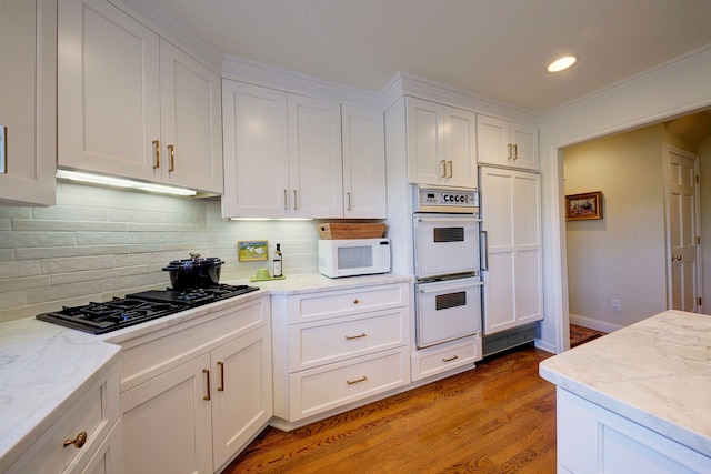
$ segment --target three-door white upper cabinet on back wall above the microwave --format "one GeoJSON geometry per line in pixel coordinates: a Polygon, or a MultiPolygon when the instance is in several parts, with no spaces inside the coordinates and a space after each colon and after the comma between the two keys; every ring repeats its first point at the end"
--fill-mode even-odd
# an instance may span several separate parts
{"type": "Polygon", "coordinates": [[[379,110],[222,82],[226,218],[383,219],[379,110]]]}

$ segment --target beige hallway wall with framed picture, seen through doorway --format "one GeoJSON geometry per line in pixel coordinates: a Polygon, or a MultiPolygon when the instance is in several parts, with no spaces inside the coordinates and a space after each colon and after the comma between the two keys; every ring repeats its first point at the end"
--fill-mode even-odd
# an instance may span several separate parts
{"type": "Polygon", "coordinates": [[[667,309],[662,137],[658,124],[564,150],[565,195],[603,194],[602,220],[565,222],[578,324],[611,332],[667,309]]]}

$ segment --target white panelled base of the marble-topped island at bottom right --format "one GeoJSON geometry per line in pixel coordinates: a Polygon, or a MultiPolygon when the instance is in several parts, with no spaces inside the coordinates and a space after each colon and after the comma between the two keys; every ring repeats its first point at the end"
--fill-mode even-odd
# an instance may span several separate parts
{"type": "Polygon", "coordinates": [[[565,390],[557,390],[559,473],[711,472],[711,458],[565,390]]]}

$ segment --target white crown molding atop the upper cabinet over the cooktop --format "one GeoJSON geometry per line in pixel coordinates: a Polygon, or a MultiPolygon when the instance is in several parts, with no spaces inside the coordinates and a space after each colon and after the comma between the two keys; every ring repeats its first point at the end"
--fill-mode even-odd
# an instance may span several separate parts
{"type": "Polygon", "coordinates": [[[109,0],[123,12],[158,33],[177,48],[201,62],[216,73],[220,73],[224,52],[211,42],[174,21],[154,7],[142,0],[109,0]]]}

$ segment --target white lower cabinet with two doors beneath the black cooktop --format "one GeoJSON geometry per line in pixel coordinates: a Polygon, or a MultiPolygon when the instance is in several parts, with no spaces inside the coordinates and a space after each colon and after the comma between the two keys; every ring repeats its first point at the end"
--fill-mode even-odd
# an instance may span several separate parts
{"type": "Polygon", "coordinates": [[[264,296],[126,342],[126,472],[219,472],[266,426],[269,312],[264,296]]]}

